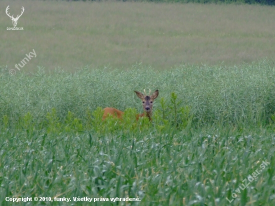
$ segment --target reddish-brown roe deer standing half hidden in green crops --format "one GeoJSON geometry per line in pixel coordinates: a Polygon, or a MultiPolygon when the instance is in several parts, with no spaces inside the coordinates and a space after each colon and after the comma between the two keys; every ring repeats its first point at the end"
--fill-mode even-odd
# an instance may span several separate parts
{"type": "MultiPolygon", "coordinates": [[[[138,98],[142,99],[142,106],[143,106],[143,110],[144,110],[143,113],[135,115],[136,120],[138,120],[139,117],[146,116],[151,121],[153,100],[158,96],[158,90],[155,90],[152,95],[150,95],[151,90],[149,91],[148,95],[146,95],[145,89],[144,89],[144,94],[139,91],[134,91],[134,92],[136,93],[138,98]]],[[[120,111],[120,110],[118,110],[116,108],[112,108],[112,107],[106,107],[103,110],[104,110],[104,113],[102,116],[102,120],[104,120],[108,114],[115,116],[119,119],[122,119],[122,115],[124,113],[123,111],[120,111]]]]}

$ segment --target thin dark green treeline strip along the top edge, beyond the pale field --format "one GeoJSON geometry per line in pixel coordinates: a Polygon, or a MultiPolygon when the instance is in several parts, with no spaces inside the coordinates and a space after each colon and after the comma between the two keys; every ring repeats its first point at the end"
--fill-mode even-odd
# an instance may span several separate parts
{"type": "MultiPolygon", "coordinates": [[[[95,0],[92,0],[92,1],[95,1],[95,0]]],[[[181,2],[181,3],[236,3],[236,4],[256,3],[261,5],[275,5],[275,0],[122,0],[122,1],[181,2]]]]}

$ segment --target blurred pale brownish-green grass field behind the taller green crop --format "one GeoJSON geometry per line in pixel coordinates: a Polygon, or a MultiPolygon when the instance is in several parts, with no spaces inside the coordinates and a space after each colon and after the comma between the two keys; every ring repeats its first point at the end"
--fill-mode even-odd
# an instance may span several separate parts
{"type": "Polygon", "coordinates": [[[275,56],[274,7],[148,2],[0,1],[0,65],[74,71],[85,65],[156,69],[181,63],[233,66],[275,56]],[[17,27],[11,14],[25,11],[17,27]]]}

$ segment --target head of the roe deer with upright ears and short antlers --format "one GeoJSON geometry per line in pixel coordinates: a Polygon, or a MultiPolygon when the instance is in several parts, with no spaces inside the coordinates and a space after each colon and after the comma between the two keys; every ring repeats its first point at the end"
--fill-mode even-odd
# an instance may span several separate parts
{"type": "Polygon", "coordinates": [[[155,90],[152,95],[150,95],[151,90],[149,91],[149,94],[146,95],[145,89],[144,94],[139,91],[134,91],[138,98],[142,100],[142,106],[144,109],[144,112],[148,117],[150,117],[153,109],[153,100],[158,96],[158,90],[155,90]]]}

